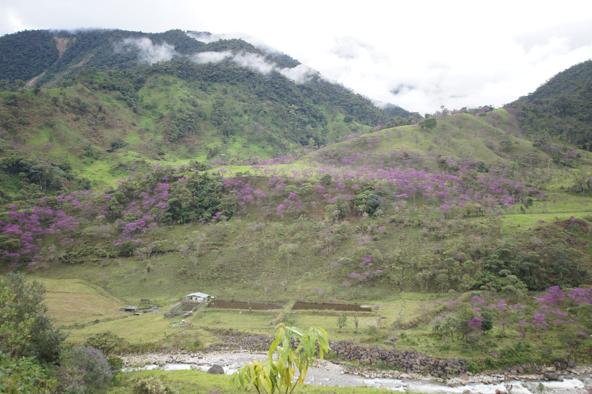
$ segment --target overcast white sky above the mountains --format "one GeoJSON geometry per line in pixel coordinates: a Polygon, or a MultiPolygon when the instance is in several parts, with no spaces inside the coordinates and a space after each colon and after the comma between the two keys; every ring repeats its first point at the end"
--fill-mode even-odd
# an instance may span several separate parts
{"type": "Polygon", "coordinates": [[[409,111],[503,105],[592,57],[592,1],[0,0],[0,34],[104,27],[265,43],[409,111]]]}

